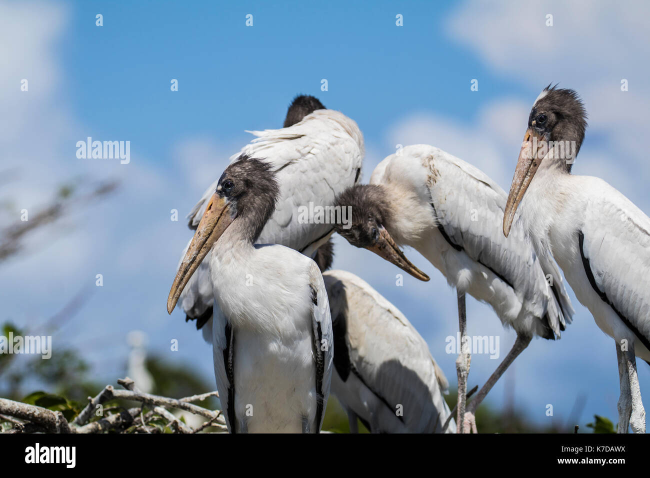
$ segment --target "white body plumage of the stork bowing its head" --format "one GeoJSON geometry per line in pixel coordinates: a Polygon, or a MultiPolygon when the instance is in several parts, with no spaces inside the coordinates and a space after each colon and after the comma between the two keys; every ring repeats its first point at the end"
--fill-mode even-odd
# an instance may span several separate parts
{"type": "Polygon", "coordinates": [[[389,230],[396,242],[417,249],[460,293],[491,305],[503,325],[552,338],[570,323],[560,272],[535,254],[521,226],[503,237],[507,194],[484,172],[417,144],[384,159],[370,183],[385,187],[398,211],[389,230]]]}

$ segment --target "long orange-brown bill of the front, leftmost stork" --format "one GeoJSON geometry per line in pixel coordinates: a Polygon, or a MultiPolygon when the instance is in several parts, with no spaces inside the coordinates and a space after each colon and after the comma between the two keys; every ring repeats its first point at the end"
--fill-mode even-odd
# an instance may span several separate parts
{"type": "Polygon", "coordinates": [[[196,233],[192,237],[192,242],[187,248],[185,257],[181,262],[181,267],[178,268],[178,272],[174,278],[172,289],[169,291],[169,297],[167,298],[168,313],[172,313],[188,280],[190,280],[192,274],[194,274],[194,271],[196,271],[196,268],[203,258],[205,258],[214,243],[216,243],[232,222],[233,215],[231,214],[230,203],[214,193],[205,208],[205,213],[201,217],[201,222],[199,222],[196,228],[196,233]]]}

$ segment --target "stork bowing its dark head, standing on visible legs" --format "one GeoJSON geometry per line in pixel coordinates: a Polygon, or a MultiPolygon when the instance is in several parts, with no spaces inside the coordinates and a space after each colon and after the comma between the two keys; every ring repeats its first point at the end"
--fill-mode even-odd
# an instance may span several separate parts
{"type": "Polygon", "coordinates": [[[344,191],[337,204],[352,206],[352,227],[337,225],[337,232],[352,245],[385,258],[385,251],[396,250],[396,245],[409,245],[443,273],[458,292],[462,338],[465,293],[487,302],[501,323],[517,332],[512,350],[467,406],[466,415],[466,350],[456,362],[458,429],[463,417],[465,431],[474,429],[476,407],[530,339],[559,337],[571,321],[573,308],[557,266],[550,256],[534,253],[518,224],[512,241],[504,239],[500,224],[506,193],[497,183],[433,146],[406,146],[387,157],[375,168],[369,185],[344,191]]]}

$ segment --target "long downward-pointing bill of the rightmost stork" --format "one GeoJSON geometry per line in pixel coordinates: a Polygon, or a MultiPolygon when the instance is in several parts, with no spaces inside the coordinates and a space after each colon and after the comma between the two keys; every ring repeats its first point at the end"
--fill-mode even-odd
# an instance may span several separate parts
{"type": "Polygon", "coordinates": [[[510,233],[512,221],[515,219],[515,212],[526,193],[526,189],[532,181],[539,168],[539,163],[543,157],[540,157],[539,150],[533,150],[538,142],[545,140],[539,137],[535,131],[528,128],[524,135],[523,143],[521,144],[521,151],[519,152],[519,159],[517,159],[517,167],[515,168],[515,175],[512,178],[512,185],[510,186],[510,194],[508,194],[508,201],[506,202],[506,210],[503,214],[503,233],[506,237],[510,233]]]}

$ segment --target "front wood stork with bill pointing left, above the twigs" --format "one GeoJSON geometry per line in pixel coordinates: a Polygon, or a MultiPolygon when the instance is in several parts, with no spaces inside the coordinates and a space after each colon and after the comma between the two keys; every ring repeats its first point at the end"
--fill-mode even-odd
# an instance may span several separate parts
{"type": "Polygon", "coordinates": [[[271,165],[247,155],[231,163],[167,301],[172,313],[212,248],[223,311],[213,323],[214,371],[230,432],[318,432],[330,392],[330,308],[318,266],[291,248],[255,244],[279,197],[271,165]]]}

